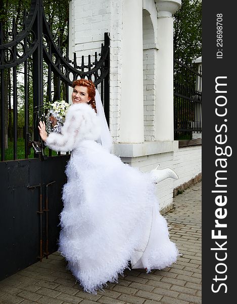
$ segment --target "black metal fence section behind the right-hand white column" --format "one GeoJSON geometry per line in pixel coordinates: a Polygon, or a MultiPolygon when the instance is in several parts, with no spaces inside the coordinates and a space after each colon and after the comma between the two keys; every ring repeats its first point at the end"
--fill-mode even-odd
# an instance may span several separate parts
{"type": "Polygon", "coordinates": [[[202,70],[174,58],[174,139],[202,132],[202,70]]]}

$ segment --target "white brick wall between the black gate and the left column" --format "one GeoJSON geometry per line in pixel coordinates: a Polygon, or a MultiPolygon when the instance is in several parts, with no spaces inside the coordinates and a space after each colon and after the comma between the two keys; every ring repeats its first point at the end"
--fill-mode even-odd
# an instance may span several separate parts
{"type": "MultiPolygon", "coordinates": [[[[121,99],[121,0],[72,0],[72,40],[70,58],[76,52],[77,64],[88,63],[87,55],[94,61],[94,52],[101,51],[104,32],[110,33],[110,130],[114,142],[118,140],[121,99]]],[[[99,59],[99,58],[98,58],[99,59]]],[[[100,89],[99,89],[100,90],[100,89]]]]}

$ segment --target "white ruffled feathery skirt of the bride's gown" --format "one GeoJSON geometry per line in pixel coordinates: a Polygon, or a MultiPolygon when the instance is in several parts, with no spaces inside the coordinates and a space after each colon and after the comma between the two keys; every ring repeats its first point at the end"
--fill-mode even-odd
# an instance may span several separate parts
{"type": "Polygon", "coordinates": [[[129,261],[148,272],[176,261],[149,174],[90,140],[73,150],[66,174],[59,251],[85,291],[116,282],[129,261]]]}

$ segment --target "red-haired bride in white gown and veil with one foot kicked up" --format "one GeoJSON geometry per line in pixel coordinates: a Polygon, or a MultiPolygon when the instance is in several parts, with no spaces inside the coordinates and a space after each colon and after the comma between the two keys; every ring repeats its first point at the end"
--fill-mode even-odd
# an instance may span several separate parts
{"type": "Polygon", "coordinates": [[[176,261],[155,183],[177,178],[171,169],[142,173],[110,153],[112,140],[100,94],[93,83],[73,83],[73,104],[61,133],[39,134],[56,151],[72,151],[63,187],[59,251],[84,291],[117,282],[128,267],[163,269],[176,261]]]}

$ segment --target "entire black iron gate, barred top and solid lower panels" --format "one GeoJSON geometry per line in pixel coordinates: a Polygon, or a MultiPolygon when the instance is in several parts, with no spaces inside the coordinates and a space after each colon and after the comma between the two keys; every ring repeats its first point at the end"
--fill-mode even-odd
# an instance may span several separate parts
{"type": "Polygon", "coordinates": [[[0,23],[0,279],[57,250],[61,192],[66,181],[64,169],[70,155],[52,156],[52,151],[46,149],[36,154],[30,146],[32,141],[39,140],[37,125],[45,100],[51,103],[52,96],[54,100],[62,97],[68,100],[69,86],[79,78],[91,79],[98,87],[109,123],[108,33],[104,38],[100,53],[95,52],[87,58],[82,56],[78,65],[76,54],[71,61],[68,52],[62,53],[60,41],[55,44],[42,0],[31,0],[29,13],[19,32],[13,20],[11,39],[0,23]],[[8,73],[9,78],[6,77],[8,73]],[[24,84],[23,157],[19,152],[18,132],[20,74],[24,84]]]}

